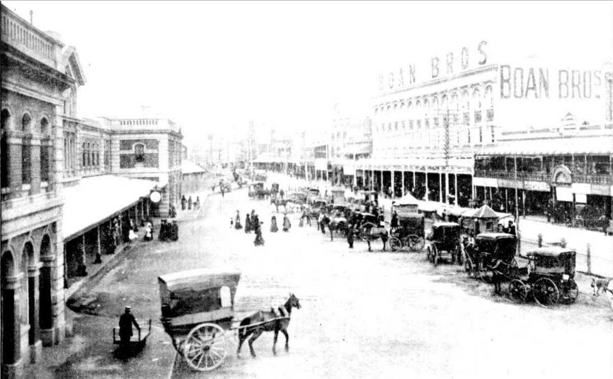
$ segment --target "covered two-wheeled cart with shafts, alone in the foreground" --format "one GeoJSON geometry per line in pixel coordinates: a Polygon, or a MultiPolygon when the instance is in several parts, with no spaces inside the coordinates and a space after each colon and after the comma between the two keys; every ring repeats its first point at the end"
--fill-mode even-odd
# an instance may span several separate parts
{"type": "Polygon", "coordinates": [[[210,371],[219,367],[235,331],[289,318],[280,315],[263,323],[237,326],[240,321],[234,321],[234,296],[239,280],[238,271],[214,269],[174,272],[158,278],[164,331],[192,369],[210,371]]]}

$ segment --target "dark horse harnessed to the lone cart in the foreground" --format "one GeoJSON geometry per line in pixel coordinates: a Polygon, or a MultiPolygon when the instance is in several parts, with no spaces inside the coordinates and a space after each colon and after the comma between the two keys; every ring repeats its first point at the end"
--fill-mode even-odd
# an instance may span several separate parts
{"type": "Polygon", "coordinates": [[[289,299],[281,307],[278,307],[278,313],[275,312],[275,308],[270,308],[269,311],[259,311],[251,316],[245,317],[240,322],[238,329],[238,349],[236,351],[237,357],[240,358],[240,348],[243,346],[243,342],[251,335],[249,339],[249,350],[251,356],[256,358],[256,352],[253,350],[253,342],[263,332],[275,332],[275,339],[272,344],[272,353],[276,355],[276,339],[279,335],[279,331],[285,335],[285,351],[289,351],[289,335],[287,335],[287,326],[291,320],[292,308],[300,309],[300,301],[294,294],[289,294],[289,299]],[[249,326],[253,325],[254,326],[249,326]]]}

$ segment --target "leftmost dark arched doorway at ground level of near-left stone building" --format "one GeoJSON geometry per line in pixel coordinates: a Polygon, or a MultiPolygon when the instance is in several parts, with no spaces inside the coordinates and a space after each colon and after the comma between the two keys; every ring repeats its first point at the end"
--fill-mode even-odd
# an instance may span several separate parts
{"type": "Polygon", "coordinates": [[[18,340],[18,313],[15,307],[15,260],[10,251],[2,253],[2,308],[1,333],[2,336],[2,370],[4,365],[14,364],[19,359],[20,343],[18,340]],[[17,321],[17,322],[16,322],[17,321]],[[17,337],[17,338],[16,338],[17,337]]]}

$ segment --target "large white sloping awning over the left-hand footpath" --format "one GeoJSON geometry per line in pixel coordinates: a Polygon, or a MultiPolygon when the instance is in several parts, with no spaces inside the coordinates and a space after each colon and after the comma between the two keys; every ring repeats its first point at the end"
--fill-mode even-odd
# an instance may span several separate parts
{"type": "Polygon", "coordinates": [[[63,239],[76,237],[131,206],[140,197],[149,196],[156,185],[163,186],[151,180],[100,175],[82,178],[77,185],[64,188],[63,239]]]}

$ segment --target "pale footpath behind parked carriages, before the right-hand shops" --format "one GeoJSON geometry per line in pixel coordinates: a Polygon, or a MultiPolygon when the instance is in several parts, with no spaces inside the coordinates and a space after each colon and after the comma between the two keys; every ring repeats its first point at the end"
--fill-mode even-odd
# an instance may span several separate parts
{"type": "MultiPolygon", "coordinates": [[[[308,181],[287,175],[269,174],[268,182],[284,183],[286,186],[314,186],[320,191],[330,190],[330,183],[322,180],[308,181]]],[[[392,202],[394,199],[379,197],[379,205],[383,206],[386,220],[390,220],[392,202]]],[[[446,204],[432,202],[433,207],[444,209],[446,204]]],[[[590,231],[581,228],[569,228],[563,225],[548,223],[546,219],[527,216],[520,217],[519,233],[522,242],[538,245],[539,234],[543,237],[543,245],[558,245],[562,239],[566,247],[577,252],[577,270],[586,274],[601,277],[613,277],[613,237],[604,232],[590,231]]]]}

